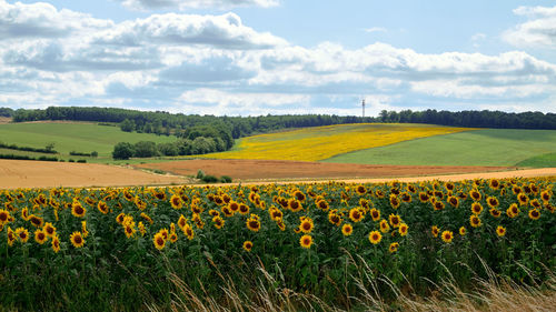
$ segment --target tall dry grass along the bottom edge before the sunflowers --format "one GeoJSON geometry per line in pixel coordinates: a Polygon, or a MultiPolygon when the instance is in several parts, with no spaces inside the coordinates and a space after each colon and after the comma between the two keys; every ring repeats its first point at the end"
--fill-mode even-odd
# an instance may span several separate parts
{"type": "MultiPolygon", "coordinates": [[[[475,276],[475,288],[463,290],[448,272],[447,279],[436,284],[430,282],[427,295],[418,294],[411,285],[396,286],[387,276],[377,276],[363,259],[354,259],[358,274],[350,278],[358,285],[357,293],[344,293],[344,300],[331,304],[311,293],[296,292],[277,280],[264,266],[257,268],[258,278],[246,275],[244,281],[235,282],[218,272],[221,296],[208,292],[197,293],[191,282],[176,273],[168,276],[173,284],[171,304],[160,306],[147,304],[151,312],[159,311],[554,311],[556,303],[556,275],[545,268],[548,278],[543,283],[518,283],[496,275],[488,266],[488,278],[475,276]],[[247,283],[247,284],[246,284],[247,283]],[[248,285],[246,288],[246,285],[248,285]],[[384,292],[386,290],[386,292],[384,292]]],[[[441,263],[439,264],[441,265],[441,263]]],[[[486,264],[485,264],[486,265],[486,264]]],[[[446,266],[443,266],[447,270],[446,266]]],[[[215,269],[217,266],[215,265],[215,269]]],[[[248,273],[248,272],[246,272],[248,273]]],[[[533,272],[528,271],[528,274],[533,272]]],[[[427,280],[425,276],[423,279],[427,280]]],[[[536,280],[530,276],[530,280],[536,280]]],[[[200,282],[200,281],[195,281],[200,282]]],[[[202,285],[201,285],[202,289],[202,285]]],[[[341,293],[346,290],[338,288],[341,293]]]]}

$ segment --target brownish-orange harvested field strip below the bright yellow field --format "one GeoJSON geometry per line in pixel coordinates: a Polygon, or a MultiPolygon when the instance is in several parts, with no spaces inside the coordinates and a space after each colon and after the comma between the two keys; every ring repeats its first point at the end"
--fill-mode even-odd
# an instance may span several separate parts
{"type": "Polygon", "coordinates": [[[280,160],[185,160],[136,165],[178,175],[229,175],[234,180],[354,179],[437,175],[507,170],[507,167],[371,165],[280,160]]]}

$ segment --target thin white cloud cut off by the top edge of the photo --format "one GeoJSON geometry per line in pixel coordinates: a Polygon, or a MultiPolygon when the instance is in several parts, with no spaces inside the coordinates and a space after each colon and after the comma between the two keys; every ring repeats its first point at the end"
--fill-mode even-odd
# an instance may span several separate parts
{"type": "Polygon", "coordinates": [[[237,7],[270,8],[279,4],[278,0],[118,0],[131,10],[156,9],[220,9],[228,10],[237,7]]]}

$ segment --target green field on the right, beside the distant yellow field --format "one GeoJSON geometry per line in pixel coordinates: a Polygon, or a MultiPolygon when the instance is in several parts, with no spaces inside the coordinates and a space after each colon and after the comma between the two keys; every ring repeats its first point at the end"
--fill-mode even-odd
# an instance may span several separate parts
{"type": "Polygon", "coordinates": [[[324,161],[367,164],[556,167],[556,131],[476,130],[345,153],[324,161]]]}

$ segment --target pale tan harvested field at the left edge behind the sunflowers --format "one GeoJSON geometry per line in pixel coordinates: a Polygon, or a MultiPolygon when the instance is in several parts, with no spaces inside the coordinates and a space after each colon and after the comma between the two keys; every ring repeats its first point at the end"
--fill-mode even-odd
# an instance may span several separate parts
{"type": "Polygon", "coordinates": [[[185,183],[178,177],[97,163],[0,160],[0,189],[185,183]]]}

